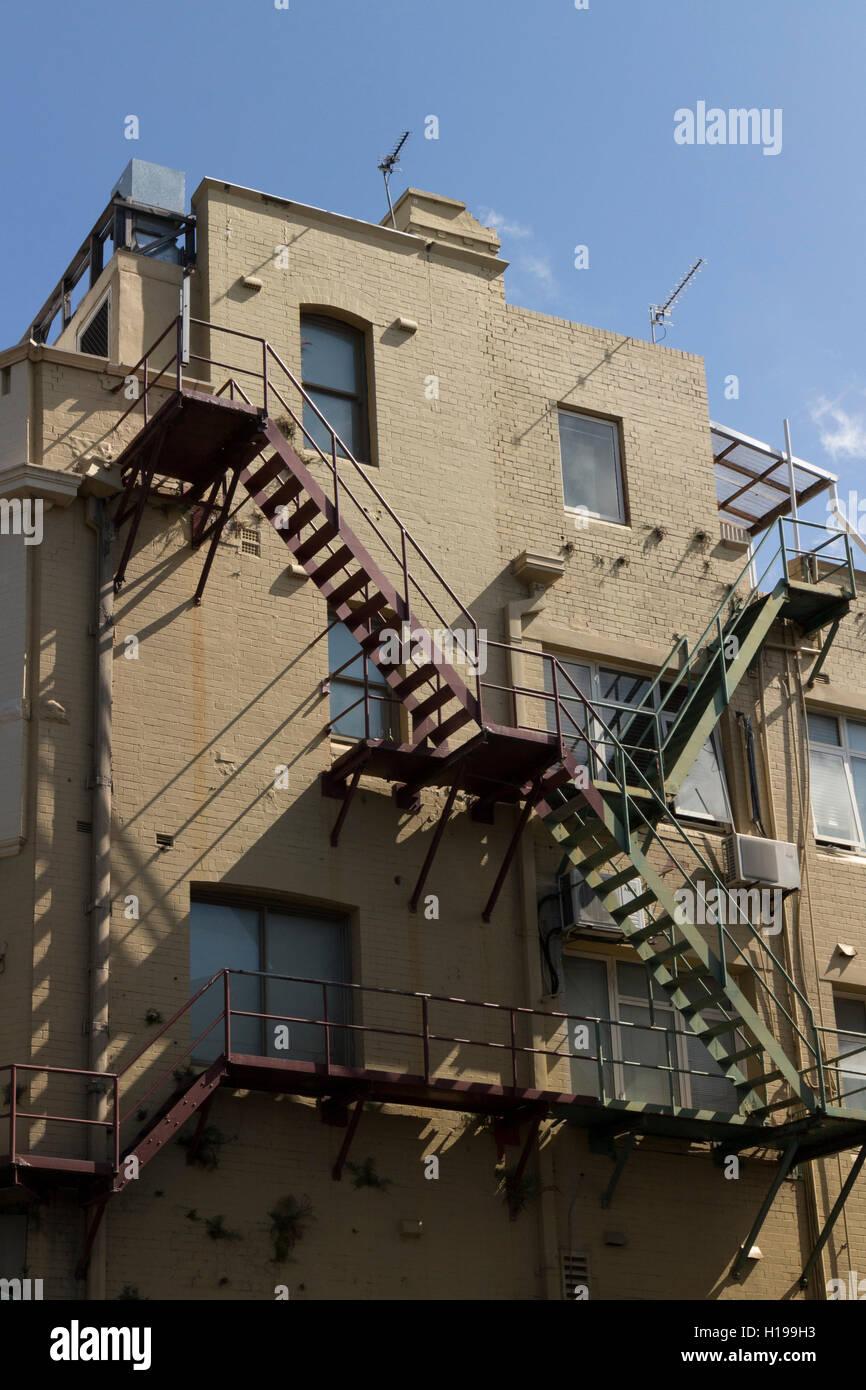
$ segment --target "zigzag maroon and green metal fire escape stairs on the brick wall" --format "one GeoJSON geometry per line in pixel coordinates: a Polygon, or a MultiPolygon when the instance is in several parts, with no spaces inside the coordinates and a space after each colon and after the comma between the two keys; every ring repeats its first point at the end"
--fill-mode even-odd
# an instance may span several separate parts
{"type": "MultiPolygon", "coordinates": [[[[117,518],[132,520],[118,588],[146,498],[170,480],[170,495],[197,509],[193,543],[210,541],[196,594],[200,600],[220,535],[238,489],[243,489],[335,619],[357,639],[364,659],[378,667],[389,698],[405,712],[403,737],[370,737],[364,689],[367,737],[342,755],[324,780],[325,792],[343,799],[341,821],[363,773],[393,781],[403,806],[417,805],[424,785],[449,787],[446,813],[457,785],[474,795],[485,812],[495,801],[523,802],[516,837],[534,810],[562,848],[564,862],[605,903],[652,979],[735,1088],[744,1129],[753,1136],[755,1127],[763,1129],[776,1112],[784,1112],[777,1118],[785,1123],[826,1115],[824,1069],[810,1005],[760,926],[745,919],[716,869],[692,842],[673,802],[773,623],[792,619],[802,634],[828,628],[816,664],[823,662],[853,595],[847,538],[848,587],[838,582],[837,570],[845,566],[833,567],[827,541],[812,550],[791,550],[780,520],[731,585],[701,639],[694,648],[685,639],[674,645],[642,703],[620,717],[616,728],[549,657],[553,691],[548,687],[537,694],[552,701],[556,733],[550,731],[550,720],[541,730],[521,727],[517,714],[512,724],[496,723],[487,714],[481,677],[464,680],[435,644],[430,660],[414,669],[385,655],[385,631],[399,632],[403,624],[410,631],[427,630],[430,614],[441,616],[430,594],[432,584],[456,603],[467,630],[477,634],[478,627],[272,348],[261,343],[263,404],[257,406],[235,377],[220,391],[188,386],[182,379],[179,320],[177,332],[178,349],[168,363],[175,366],[175,389],[147,416],[149,393],[167,367],[153,375],[146,357],[145,428],[118,460],[124,496],[117,518]],[[286,400],[289,388],[303,400],[302,416],[286,400]],[[275,423],[271,411],[277,406],[285,411],[284,420],[291,418],[289,431],[284,420],[282,427],[275,423]],[[329,457],[304,425],[307,409],[329,432],[329,457]],[[300,452],[286,438],[295,431],[306,441],[300,452]],[[391,538],[384,532],[382,516],[393,523],[391,538]],[[361,532],[378,538],[381,560],[373,557],[361,532]],[[767,564],[758,581],[762,552],[767,564]],[[396,578],[389,578],[386,569],[396,578]],[[771,587],[763,591],[760,584],[770,574],[771,587]],[[741,581],[746,575],[751,588],[744,592],[741,581]],[[638,895],[624,902],[623,890],[638,878],[638,895]],[[716,909],[719,903],[727,909],[716,923],[712,912],[695,910],[695,905],[706,908],[710,895],[716,909]]],[[[505,867],[507,862],[503,873],[505,867]]],[[[498,880],[495,891],[499,885],[498,880]]],[[[229,1080],[228,1073],[229,1062],[222,1056],[179,1088],[125,1156],[139,1163],[153,1158],[190,1115],[202,1113],[217,1087],[229,1080]]],[[[627,1109],[637,1102],[619,1104],[627,1109]]],[[[121,1166],[115,1190],[125,1182],[121,1166]]]]}

